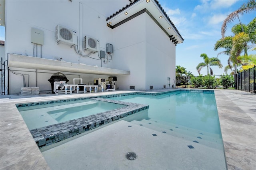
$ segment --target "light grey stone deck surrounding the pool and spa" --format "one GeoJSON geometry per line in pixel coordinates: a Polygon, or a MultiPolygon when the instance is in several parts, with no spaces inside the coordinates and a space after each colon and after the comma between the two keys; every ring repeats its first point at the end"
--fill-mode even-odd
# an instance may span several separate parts
{"type": "MultiPolygon", "coordinates": [[[[160,91],[164,90],[148,92],[160,91]]],[[[28,103],[124,92],[128,93],[134,91],[113,91],[58,96],[52,94],[37,96],[1,96],[0,169],[50,169],[50,165],[48,166],[46,163],[43,154],[34,142],[14,103],[28,103]]],[[[256,169],[256,95],[238,90],[214,90],[214,92],[228,169],[256,169]]],[[[95,132],[97,132],[97,130],[95,132]]],[[[90,133],[90,135],[93,134],[94,132],[90,133]]],[[[138,158],[139,157],[140,155],[138,155],[138,158]]],[[[104,159],[104,157],[100,157],[100,159],[104,159]]],[[[86,167],[83,168],[86,169],[86,167]]],[[[114,166],[103,167],[103,169],[112,168],[114,168],[114,166]]],[[[129,165],[124,165],[124,169],[129,168],[129,165]]],[[[146,167],[137,167],[137,165],[135,165],[133,168],[143,169],[146,167]]],[[[58,167],[56,167],[56,169],[58,169],[58,167]]]]}

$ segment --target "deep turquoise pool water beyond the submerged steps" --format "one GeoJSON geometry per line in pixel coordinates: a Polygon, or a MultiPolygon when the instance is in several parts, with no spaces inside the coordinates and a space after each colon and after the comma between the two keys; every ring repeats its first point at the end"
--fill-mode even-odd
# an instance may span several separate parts
{"type": "Polygon", "coordinates": [[[214,93],[175,92],[111,99],[149,105],[148,119],[221,134],[214,93]]]}

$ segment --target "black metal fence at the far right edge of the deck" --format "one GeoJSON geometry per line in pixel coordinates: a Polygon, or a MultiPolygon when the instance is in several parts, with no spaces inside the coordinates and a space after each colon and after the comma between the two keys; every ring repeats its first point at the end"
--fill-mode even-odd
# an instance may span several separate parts
{"type": "Polygon", "coordinates": [[[256,93],[256,67],[242,71],[235,75],[235,87],[237,90],[256,93]]]}

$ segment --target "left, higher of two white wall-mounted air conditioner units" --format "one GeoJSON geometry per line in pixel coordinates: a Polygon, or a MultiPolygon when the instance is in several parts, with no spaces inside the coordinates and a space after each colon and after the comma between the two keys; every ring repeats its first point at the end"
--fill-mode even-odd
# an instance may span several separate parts
{"type": "Polygon", "coordinates": [[[57,25],[55,29],[55,41],[58,43],[66,43],[73,47],[77,45],[77,35],[76,31],[64,26],[57,25]]]}

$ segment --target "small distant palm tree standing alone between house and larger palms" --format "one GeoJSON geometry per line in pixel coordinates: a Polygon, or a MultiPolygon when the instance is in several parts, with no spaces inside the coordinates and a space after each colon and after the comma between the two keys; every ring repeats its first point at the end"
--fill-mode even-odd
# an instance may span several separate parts
{"type": "Polygon", "coordinates": [[[220,63],[220,59],[217,57],[209,58],[206,53],[202,53],[200,57],[204,58],[204,62],[199,63],[196,66],[196,69],[198,71],[198,74],[200,75],[200,71],[203,67],[207,67],[207,75],[209,75],[209,68],[210,68],[210,75],[213,75],[212,68],[210,66],[218,66],[219,68],[222,68],[222,64],[220,63]]]}

